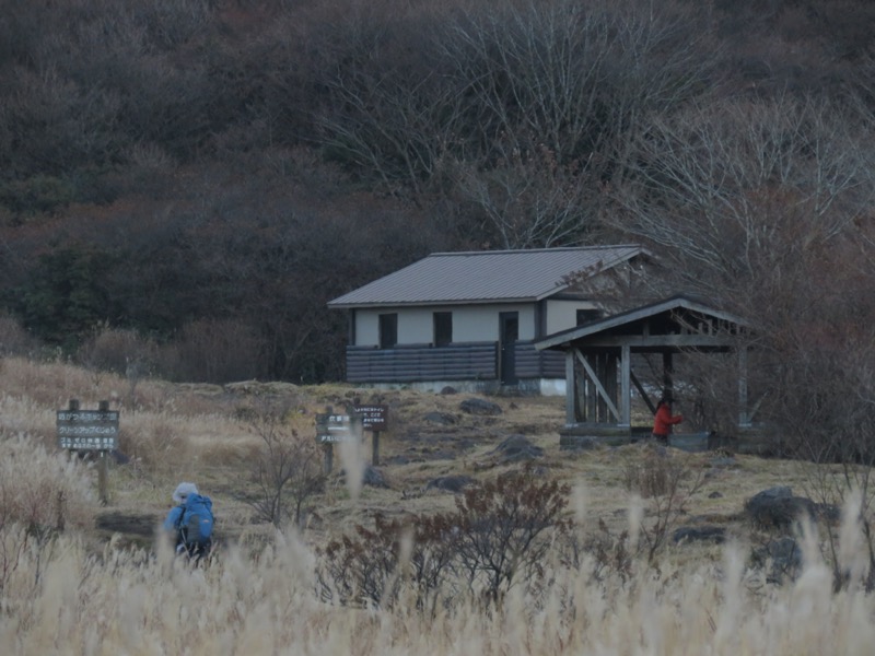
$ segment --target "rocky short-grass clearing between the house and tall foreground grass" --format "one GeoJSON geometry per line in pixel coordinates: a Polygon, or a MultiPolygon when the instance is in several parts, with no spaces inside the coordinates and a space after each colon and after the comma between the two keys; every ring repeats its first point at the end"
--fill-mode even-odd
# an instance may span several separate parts
{"type": "MultiPolygon", "coordinates": [[[[346,484],[339,459],[328,478],[325,491],[306,515],[305,540],[319,542],[328,535],[349,530],[354,524],[369,524],[375,514],[400,517],[454,508],[457,492],[435,485],[446,477],[482,480],[502,471],[533,466],[545,478],[565,482],[574,490],[570,503],[579,519],[596,526],[606,523],[622,530],[634,491],[629,481],[652,445],[598,446],[587,450],[560,448],[559,431],[564,421],[564,399],[559,397],[478,396],[468,394],[428,394],[411,390],[376,391],[343,386],[299,388],[294,386],[257,390],[248,387],[180,389],[178,394],[198,395],[226,414],[238,412],[253,395],[294,395],[303,400],[312,419],[327,407],[342,408],[348,402],[385,405],[387,430],[380,434],[380,464],[371,467],[378,484],[365,484],[353,493],[346,484]],[[508,442],[523,441],[530,448],[523,453],[503,448],[508,442]]],[[[187,421],[179,418],[180,422],[187,421]]],[[[307,423],[305,422],[305,423],[307,423]]],[[[337,447],[335,447],[337,450],[337,447]]],[[[518,450],[518,449],[517,449],[518,450]]],[[[371,434],[364,433],[362,459],[371,464],[371,434]]],[[[687,453],[663,448],[699,481],[699,489],[685,499],[677,524],[716,525],[733,534],[747,530],[742,511],[747,499],[773,485],[798,490],[806,477],[798,464],[767,460],[725,452],[687,453]]],[[[96,537],[118,543],[148,547],[153,543],[156,526],[170,507],[170,491],[175,483],[154,478],[151,482],[126,471],[127,465],[114,465],[116,481],[113,499],[96,520],[96,537]],[[161,489],[163,487],[163,490],[161,489]]],[[[213,499],[217,512],[217,538],[224,543],[267,538],[272,527],[259,520],[252,506],[241,500],[240,485],[245,479],[241,461],[203,466],[198,471],[202,492],[213,499]]],[[[690,483],[691,484],[691,483],[690,483]]],[[[645,517],[650,511],[646,509],[645,517]]]]}

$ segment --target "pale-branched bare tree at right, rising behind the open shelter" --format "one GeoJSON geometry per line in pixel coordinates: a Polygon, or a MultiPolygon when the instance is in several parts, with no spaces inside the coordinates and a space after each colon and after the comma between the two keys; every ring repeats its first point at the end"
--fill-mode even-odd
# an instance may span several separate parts
{"type": "Polygon", "coordinates": [[[875,419],[861,394],[875,364],[871,128],[853,103],[700,105],[654,118],[612,189],[615,225],[653,245],[675,285],[749,320],[761,417],[788,452],[859,445],[856,422],[875,419]]]}

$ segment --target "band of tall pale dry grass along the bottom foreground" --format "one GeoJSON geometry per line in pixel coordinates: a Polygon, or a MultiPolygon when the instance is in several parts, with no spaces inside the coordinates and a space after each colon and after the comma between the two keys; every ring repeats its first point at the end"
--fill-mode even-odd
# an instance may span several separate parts
{"type": "Polygon", "coordinates": [[[27,543],[2,590],[0,644],[10,656],[871,654],[875,600],[833,594],[808,547],[802,576],[780,588],[751,586],[743,549],[728,547],[722,563],[643,569],[625,584],[555,570],[537,602],[515,588],[497,610],[462,599],[432,614],[320,602],[314,557],[293,536],[207,567],[170,550],[88,555],[63,536],[42,553],[27,543]]]}

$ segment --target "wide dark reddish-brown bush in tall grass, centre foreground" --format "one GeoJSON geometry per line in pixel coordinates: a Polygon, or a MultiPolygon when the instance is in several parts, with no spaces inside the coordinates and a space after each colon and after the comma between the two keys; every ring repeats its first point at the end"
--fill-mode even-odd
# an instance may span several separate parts
{"type": "Polygon", "coordinates": [[[561,516],[569,491],[526,468],[467,489],[454,513],[409,523],[377,518],[375,530],[358,526],[354,537],[322,550],[323,595],[392,606],[400,595],[397,576],[406,571],[417,607],[448,604],[458,591],[500,604],[517,584],[542,585],[552,544],[570,529],[561,516]]]}

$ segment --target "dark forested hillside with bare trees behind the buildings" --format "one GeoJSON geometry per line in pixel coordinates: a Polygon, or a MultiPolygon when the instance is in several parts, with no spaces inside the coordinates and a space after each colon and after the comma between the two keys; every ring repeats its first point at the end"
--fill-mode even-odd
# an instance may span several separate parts
{"type": "Polygon", "coordinates": [[[788,418],[860,425],[873,27],[866,0],[0,0],[0,348],[338,379],[326,301],[430,251],[641,241],[762,329],[788,418]]]}

